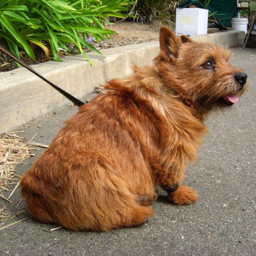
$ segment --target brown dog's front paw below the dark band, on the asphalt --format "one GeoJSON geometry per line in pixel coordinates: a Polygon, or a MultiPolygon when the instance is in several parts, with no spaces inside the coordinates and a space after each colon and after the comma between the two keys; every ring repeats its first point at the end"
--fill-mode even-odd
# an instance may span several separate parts
{"type": "Polygon", "coordinates": [[[191,204],[198,200],[198,194],[195,189],[180,185],[176,191],[168,194],[168,199],[178,205],[191,204]]]}

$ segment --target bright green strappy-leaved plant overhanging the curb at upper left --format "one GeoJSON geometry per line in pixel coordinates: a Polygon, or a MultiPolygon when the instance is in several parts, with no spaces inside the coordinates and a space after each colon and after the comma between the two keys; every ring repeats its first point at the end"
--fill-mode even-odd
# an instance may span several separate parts
{"type": "Polygon", "coordinates": [[[105,29],[108,17],[124,18],[126,15],[118,12],[126,11],[132,3],[131,0],[1,0],[0,37],[17,57],[22,48],[33,60],[33,44],[42,48],[47,58],[51,49],[54,60],[61,61],[59,48],[70,51],[67,44],[73,43],[92,64],[83,48],[101,53],[86,38],[89,34],[96,42],[105,40],[105,36],[109,38],[115,31],[105,29]]]}

